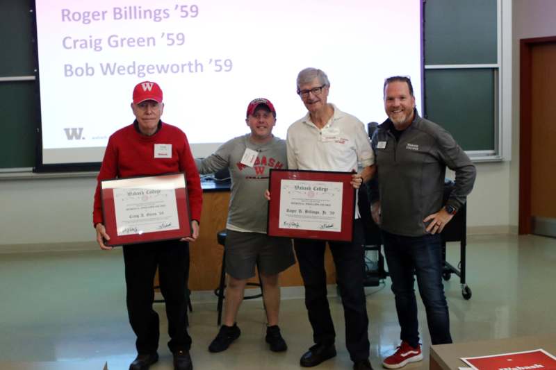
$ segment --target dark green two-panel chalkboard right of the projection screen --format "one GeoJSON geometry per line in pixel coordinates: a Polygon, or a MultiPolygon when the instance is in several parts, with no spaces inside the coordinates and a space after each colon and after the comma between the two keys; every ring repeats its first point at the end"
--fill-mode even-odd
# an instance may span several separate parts
{"type": "Polygon", "coordinates": [[[466,151],[496,152],[497,6],[496,0],[427,0],[423,11],[425,117],[466,151]]]}

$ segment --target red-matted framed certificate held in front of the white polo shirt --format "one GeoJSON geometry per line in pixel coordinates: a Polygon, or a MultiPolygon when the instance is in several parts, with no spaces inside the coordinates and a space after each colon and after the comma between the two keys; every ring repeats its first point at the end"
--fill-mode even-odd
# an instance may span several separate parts
{"type": "Polygon", "coordinates": [[[270,169],[268,235],[350,242],[351,180],[350,172],[270,169]]]}

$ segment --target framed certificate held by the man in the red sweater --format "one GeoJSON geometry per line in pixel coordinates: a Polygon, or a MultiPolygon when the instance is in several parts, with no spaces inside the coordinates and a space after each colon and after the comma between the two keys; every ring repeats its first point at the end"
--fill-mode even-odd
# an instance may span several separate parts
{"type": "Polygon", "coordinates": [[[106,245],[155,242],[191,235],[186,178],[182,174],[101,181],[106,245]]]}

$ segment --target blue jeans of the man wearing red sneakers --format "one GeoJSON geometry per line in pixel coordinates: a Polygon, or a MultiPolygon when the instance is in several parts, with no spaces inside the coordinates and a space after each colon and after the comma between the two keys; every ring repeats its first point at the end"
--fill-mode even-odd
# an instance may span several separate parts
{"type": "Polygon", "coordinates": [[[395,296],[395,309],[402,328],[400,338],[410,346],[419,344],[417,301],[414,282],[427,311],[432,344],[452,343],[448,304],[442,285],[441,237],[423,235],[404,237],[382,232],[384,253],[395,296]]]}

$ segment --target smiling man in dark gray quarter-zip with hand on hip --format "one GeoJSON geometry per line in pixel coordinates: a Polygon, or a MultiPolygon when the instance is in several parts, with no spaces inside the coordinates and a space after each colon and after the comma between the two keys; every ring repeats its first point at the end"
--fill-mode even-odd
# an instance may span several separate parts
{"type": "Polygon", "coordinates": [[[471,192],[475,166],[450,133],[419,117],[409,78],[386,78],[384,109],[389,118],[371,140],[377,176],[370,183],[370,203],[373,219],[382,229],[401,326],[402,344],[382,365],[398,369],[423,359],[414,274],[432,344],[452,343],[440,233],[471,192]],[[455,186],[443,205],[446,167],[455,171],[455,186]]]}

